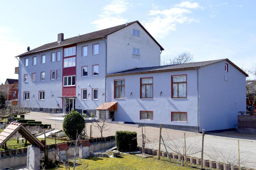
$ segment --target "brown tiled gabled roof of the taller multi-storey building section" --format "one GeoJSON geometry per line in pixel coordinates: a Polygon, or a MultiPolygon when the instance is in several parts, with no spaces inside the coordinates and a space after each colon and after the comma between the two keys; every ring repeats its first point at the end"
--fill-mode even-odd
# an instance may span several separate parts
{"type": "Polygon", "coordinates": [[[98,39],[98,38],[101,38],[101,37],[105,37],[105,36],[108,36],[108,35],[116,32],[116,31],[120,30],[120,29],[123,29],[123,28],[125,28],[129,25],[132,25],[135,22],[137,22],[148,33],[148,35],[157,43],[157,45],[160,47],[161,50],[164,50],[164,48],[152,37],[152,35],[141,25],[141,23],[139,21],[133,21],[133,22],[129,22],[127,24],[122,24],[122,25],[118,25],[118,26],[115,26],[115,27],[90,32],[90,33],[87,33],[87,34],[84,34],[84,35],[80,35],[79,37],[76,36],[76,37],[68,38],[68,39],[65,39],[65,40],[60,41],[60,42],[55,41],[55,42],[51,42],[51,43],[48,43],[48,44],[44,44],[40,47],[37,47],[37,48],[32,49],[30,51],[27,51],[23,54],[17,55],[16,57],[21,57],[21,56],[28,55],[28,54],[33,54],[33,53],[36,53],[36,52],[39,52],[39,51],[45,51],[45,50],[49,50],[49,49],[53,49],[53,48],[66,46],[66,45],[69,45],[69,44],[80,43],[80,42],[84,42],[84,41],[90,41],[90,40],[98,39]]]}

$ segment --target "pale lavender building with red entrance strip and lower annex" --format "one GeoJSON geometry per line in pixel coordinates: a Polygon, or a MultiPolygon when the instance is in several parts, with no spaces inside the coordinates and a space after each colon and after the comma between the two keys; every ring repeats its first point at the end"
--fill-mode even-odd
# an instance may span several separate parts
{"type": "Polygon", "coordinates": [[[138,21],[68,39],[58,34],[58,41],[16,56],[19,103],[57,113],[68,103],[90,115],[115,101],[115,121],[234,128],[237,111],[246,109],[248,75],[228,59],[159,66],[162,50],[138,21]]]}

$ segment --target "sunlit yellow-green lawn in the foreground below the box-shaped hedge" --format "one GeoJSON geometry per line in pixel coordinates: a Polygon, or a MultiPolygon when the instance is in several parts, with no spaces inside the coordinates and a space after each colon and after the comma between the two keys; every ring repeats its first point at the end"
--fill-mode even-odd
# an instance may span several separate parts
{"type": "MultiPolygon", "coordinates": [[[[72,164],[72,163],[71,163],[72,164]]],[[[88,165],[86,170],[93,169],[172,169],[172,170],[196,170],[189,166],[181,166],[180,162],[170,163],[167,157],[162,157],[158,160],[156,156],[150,158],[143,158],[135,154],[121,154],[117,158],[104,158],[104,157],[89,157],[84,159],[81,165],[77,166],[76,169],[83,169],[88,165]]],[[[61,170],[65,167],[60,165],[61,170]]],[[[72,168],[73,169],[73,168],[72,168]]],[[[52,168],[51,170],[57,170],[57,168],[52,168]]]]}

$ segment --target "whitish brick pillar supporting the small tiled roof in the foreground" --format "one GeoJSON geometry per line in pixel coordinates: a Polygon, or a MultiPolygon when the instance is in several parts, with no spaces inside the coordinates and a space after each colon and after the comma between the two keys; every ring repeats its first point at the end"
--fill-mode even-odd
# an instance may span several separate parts
{"type": "Polygon", "coordinates": [[[39,170],[40,148],[35,145],[28,146],[27,168],[29,170],[39,170]]]}

